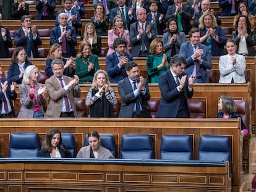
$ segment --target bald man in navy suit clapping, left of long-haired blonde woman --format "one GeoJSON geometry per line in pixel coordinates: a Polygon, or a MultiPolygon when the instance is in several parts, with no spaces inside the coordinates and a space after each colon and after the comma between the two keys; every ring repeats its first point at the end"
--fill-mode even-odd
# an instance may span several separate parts
{"type": "Polygon", "coordinates": [[[50,44],[59,43],[62,46],[62,56],[76,57],[77,36],[75,28],[67,25],[67,14],[58,15],[59,26],[51,29],[50,44]]]}

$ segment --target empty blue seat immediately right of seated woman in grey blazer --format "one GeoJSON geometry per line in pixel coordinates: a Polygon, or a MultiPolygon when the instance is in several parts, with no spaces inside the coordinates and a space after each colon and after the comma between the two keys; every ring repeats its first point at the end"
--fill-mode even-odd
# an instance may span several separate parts
{"type": "Polygon", "coordinates": [[[122,159],[153,159],[153,142],[150,135],[123,135],[121,142],[122,159]]]}

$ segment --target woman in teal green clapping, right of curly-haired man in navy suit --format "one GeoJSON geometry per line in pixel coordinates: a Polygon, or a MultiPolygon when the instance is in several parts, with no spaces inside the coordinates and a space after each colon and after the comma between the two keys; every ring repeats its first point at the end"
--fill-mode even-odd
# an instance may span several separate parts
{"type": "Polygon", "coordinates": [[[166,72],[170,68],[171,56],[168,53],[164,53],[163,41],[160,38],[150,43],[150,54],[147,57],[146,67],[149,75],[148,81],[150,83],[158,83],[161,73],[166,72]]]}

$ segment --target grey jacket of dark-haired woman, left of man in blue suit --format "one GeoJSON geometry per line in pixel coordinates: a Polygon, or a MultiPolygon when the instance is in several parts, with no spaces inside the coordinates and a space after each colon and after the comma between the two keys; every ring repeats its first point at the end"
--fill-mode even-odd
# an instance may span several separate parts
{"type": "MultiPolygon", "coordinates": [[[[173,44],[170,44],[171,40],[171,33],[166,32],[163,35],[162,41],[164,45],[164,50],[166,53],[169,53],[171,55],[173,44]]],[[[186,35],[185,33],[179,31],[177,33],[177,41],[174,43],[175,49],[176,49],[176,54],[179,54],[179,49],[181,48],[181,44],[186,42],[186,35]]]]}

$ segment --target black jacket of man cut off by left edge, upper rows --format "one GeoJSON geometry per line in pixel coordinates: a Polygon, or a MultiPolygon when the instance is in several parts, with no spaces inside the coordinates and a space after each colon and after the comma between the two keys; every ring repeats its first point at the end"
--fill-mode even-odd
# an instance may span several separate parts
{"type": "MultiPolygon", "coordinates": [[[[3,26],[0,25],[0,31],[1,28],[5,28],[3,26]]],[[[10,57],[10,53],[9,53],[9,48],[12,47],[12,40],[11,40],[11,35],[10,32],[7,28],[6,29],[6,41],[4,41],[2,39],[2,35],[0,35],[0,58],[6,58],[6,57],[10,57]]]]}

